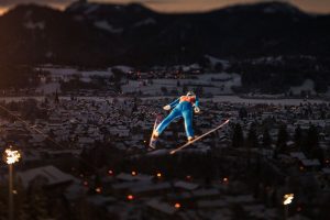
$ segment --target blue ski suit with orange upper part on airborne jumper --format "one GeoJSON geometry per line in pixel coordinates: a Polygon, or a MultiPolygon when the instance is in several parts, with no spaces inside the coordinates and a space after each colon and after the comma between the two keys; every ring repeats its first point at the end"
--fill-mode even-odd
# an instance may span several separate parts
{"type": "Polygon", "coordinates": [[[172,112],[157,125],[156,131],[161,134],[168,124],[177,118],[183,117],[185,120],[185,130],[187,138],[194,138],[193,130],[193,109],[199,107],[199,101],[196,96],[182,96],[169,103],[172,112]]]}

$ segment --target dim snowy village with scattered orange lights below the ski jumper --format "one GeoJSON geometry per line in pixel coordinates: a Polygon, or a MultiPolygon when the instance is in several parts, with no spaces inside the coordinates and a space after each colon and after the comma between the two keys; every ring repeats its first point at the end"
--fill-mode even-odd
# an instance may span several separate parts
{"type": "MultiPolygon", "coordinates": [[[[24,212],[24,199],[30,198],[40,202],[34,202],[36,211],[62,219],[329,215],[329,102],[248,103],[201,97],[201,113],[194,118],[197,134],[227,119],[230,123],[172,156],[165,150],[186,141],[178,120],[162,134],[158,148],[148,152],[155,117],[166,116],[162,107],[174,99],[54,96],[2,101],[1,148],[12,145],[22,155],[15,165],[16,208],[24,212]],[[308,142],[311,128],[317,140],[308,150],[302,142],[308,142]],[[284,206],[287,194],[295,198],[284,206]],[[56,206],[47,206],[50,199],[56,206]]],[[[6,164],[1,178],[7,178],[6,164]]]]}

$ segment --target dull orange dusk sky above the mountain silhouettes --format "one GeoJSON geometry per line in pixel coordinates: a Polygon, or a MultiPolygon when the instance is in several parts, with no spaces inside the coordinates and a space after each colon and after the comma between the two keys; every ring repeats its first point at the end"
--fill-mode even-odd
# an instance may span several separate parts
{"type": "MultiPolygon", "coordinates": [[[[65,8],[67,4],[75,0],[0,0],[0,13],[18,3],[41,3],[56,7],[59,9],[65,8]]],[[[266,0],[89,0],[97,2],[110,3],[129,3],[141,2],[156,11],[163,12],[195,12],[207,11],[217,8],[223,8],[237,3],[253,3],[266,0]]],[[[304,11],[314,13],[330,13],[330,0],[284,0],[290,2],[304,11]]]]}

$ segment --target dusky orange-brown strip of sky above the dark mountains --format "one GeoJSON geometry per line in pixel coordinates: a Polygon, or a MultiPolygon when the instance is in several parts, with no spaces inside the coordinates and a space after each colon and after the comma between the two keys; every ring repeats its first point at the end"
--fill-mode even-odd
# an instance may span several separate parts
{"type": "MultiPolygon", "coordinates": [[[[0,15],[6,13],[7,11],[13,9],[16,6],[34,3],[38,6],[46,6],[54,9],[58,9],[61,11],[65,10],[69,4],[75,2],[74,0],[52,0],[47,3],[43,2],[43,0],[14,0],[9,1],[4,0],[0,2],[0,15]]],[[[202,13],[213,10],[221,10],[232,6],[244,6],[244,4],[255,4],[262,2],[274,2],[268,0],[207,0],[200,2],[199,0],[190,0],[189,3],[185,0],[96,0],[88,1],[90,3],[105,3],[105,4],[130,4],[130,3],[140,3],[153,11],[161,13],[202,13]]],[[[315,13],[315,14],[329,14],[330,13],[330,1],[326,2],[326,0],[321,0],[318,2],[310,2],[308,0],[285,0],[285,1],[276,1],[276,2],[285,2],[289,3],[299,10],[306,13],[315,13]]]]}

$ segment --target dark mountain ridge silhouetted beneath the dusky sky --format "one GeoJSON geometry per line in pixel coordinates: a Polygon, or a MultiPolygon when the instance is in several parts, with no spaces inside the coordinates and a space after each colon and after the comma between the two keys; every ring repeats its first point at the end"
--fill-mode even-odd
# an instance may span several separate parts
{"type": "Polygon", "coordinates": [[[18,6],[0,16],[0,64],[107,66],[330,54],[330,15],[284,2],[205,13],[158,13],[142,4],[74,2],[65,11],[18,6]],[[30,14],[30,15],[29,15],[30,14]]]}

